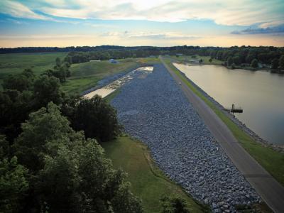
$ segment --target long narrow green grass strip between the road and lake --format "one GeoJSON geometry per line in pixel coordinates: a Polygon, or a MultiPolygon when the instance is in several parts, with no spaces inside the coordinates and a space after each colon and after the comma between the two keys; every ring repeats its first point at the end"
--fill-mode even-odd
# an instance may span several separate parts
{"type": "Polygon", "coordinates": [[[170,60],[165,59],[165,63],[175,71],[175,73],[197,94],[209,107],[219,116],[222,121],[229,127],[234,136],[238,139],[239,143],[248,151],[248,153],[265,168],[268,173],[271,173],[273,177],[284,185],[284,154],[277,151],[273,151],[272,148],[261,146],[253,140],[247,133],[242,131],[239,126],[236,126],[231,119],[229,119],[222,111],[210,102],[204,95],[180,73],[180,71],[173,66],[170,60]]]}

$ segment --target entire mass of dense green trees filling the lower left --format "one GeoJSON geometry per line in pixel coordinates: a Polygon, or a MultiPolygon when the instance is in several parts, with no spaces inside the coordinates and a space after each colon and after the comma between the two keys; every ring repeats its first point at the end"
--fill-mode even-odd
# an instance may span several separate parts
{"type": "Polygon", "coordinates": [[[121,132],[116,111],[98,96],[67,96],[57,73],[66,65],[56,66],[4,80],[0,212],[142,212],[126,173],[99,145],[121,132]]]}

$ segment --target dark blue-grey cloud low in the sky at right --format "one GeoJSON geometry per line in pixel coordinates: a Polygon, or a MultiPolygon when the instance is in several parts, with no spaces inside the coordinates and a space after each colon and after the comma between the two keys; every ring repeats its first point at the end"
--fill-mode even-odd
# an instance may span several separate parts
{"type": "Polygon", "coordinates": [[[268,28],[246,28],[242,31],[232,31],[231,34],[241,35],[241,34],[275,34],[284,33],[284,25],[268,27],[268,28]]]}

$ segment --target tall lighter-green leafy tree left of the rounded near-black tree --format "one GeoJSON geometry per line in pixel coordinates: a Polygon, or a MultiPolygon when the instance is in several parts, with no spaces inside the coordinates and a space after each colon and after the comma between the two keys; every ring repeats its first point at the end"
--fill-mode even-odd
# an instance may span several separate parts
{"type": "MultiPolygon", "coordinates": [[[[51,153],[49,141],[66,141],[72,134],[69,121],[60,115],[60,109],[53,103],[30,114],[23,123],[23,132],[13,145],[16,155],[23,165],[36,172],[43,168],[43,153],[51,153]]],[[[56,153],[56,146],[53,147],[56,153]]]]}

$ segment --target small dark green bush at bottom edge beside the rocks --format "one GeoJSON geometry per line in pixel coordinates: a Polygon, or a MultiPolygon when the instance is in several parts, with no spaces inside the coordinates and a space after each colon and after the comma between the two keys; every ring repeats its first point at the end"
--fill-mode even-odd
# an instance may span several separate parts
{"type": "Polygon", "coordinates": [[[189,213],[189,207],[187,202],[177,195],[167,196],[165,195],[160,199],[163,206],[163,213],[189,213]]]}

